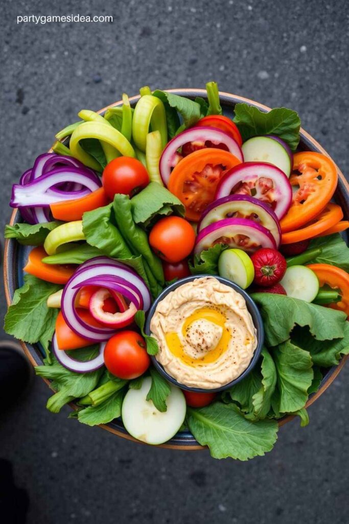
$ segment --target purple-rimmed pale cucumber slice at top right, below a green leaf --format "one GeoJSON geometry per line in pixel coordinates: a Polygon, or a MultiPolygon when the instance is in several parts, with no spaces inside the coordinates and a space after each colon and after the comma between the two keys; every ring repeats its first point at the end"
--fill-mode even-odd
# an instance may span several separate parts
{"type": "Polygon", "coordinates": [[[242,152],[245,162],[268,162],[290,176],[292,163],[288,151],[274,138],[254,136],[245,141],[242,152]]]}

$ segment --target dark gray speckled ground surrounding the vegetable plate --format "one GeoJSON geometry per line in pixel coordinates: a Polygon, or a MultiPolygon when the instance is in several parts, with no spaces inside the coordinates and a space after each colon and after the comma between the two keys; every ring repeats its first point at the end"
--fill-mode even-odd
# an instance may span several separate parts
{"type": "MultiPolygon", "coordinates": [[[[222,91],[292,107],[348,170],[345,0],[15,0],[1,10],[1,227],[10,184],[54,133],[81,108],[98,109],[144,84],[202,88],[214,79],[222,91]],[[70,13],[114,21],[16,23],[18,15],[70,13]]],[[[339,524],[349,509],[348,378],[347,366],[310,408],[308,428],[288,424],[272,453],[248,463],[152,449],[67,420],[67,410],[54,416],[38,378],[2,420],[0,457],[27,490],[29,524],[339,524]]]]}

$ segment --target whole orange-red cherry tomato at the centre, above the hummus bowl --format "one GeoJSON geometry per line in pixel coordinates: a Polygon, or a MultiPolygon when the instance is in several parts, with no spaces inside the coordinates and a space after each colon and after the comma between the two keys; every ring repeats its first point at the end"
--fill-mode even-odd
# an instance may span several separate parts
{"type": "Polygon", "coordinates": [[[159,220],[149,235],[149,244],[160,258],[176,264],[193,250],[193,227],[180,216],[166,216],[159,220]]]}

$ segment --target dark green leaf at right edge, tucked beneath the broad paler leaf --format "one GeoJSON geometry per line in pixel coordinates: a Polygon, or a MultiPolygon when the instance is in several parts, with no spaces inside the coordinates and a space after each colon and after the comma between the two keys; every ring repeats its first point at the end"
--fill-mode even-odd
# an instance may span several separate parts
{"type": "MultiPolygon", "coordinates": [[[[323,308],[327,309],[327,308],[323,308]]],[[[333,311],[333,310],[329,310],[333,311]]],[[[292,341],[310,351],[313,363],[320,367],[331,367],[339,364],[342,355],[349,354],[349,322],[344,323],[342,338],[334,340],[316,340],[307,329],[295,329],[292,341]]]]}

